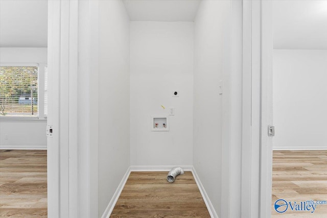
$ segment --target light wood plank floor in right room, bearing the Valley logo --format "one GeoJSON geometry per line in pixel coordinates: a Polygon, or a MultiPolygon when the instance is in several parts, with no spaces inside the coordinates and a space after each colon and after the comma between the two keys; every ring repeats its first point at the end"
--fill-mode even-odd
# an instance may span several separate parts
{"type": "Polygon", "coordinates": [[[327,201],[327,150],[273,152],[271,207],[273,218],[327,217],[327,205],[317,205],[313,213],[312,210],[292,211],[290,206],[286,212],[277,213],[274,203],[278,199],[292,205],[307,200],[327,201]]]}

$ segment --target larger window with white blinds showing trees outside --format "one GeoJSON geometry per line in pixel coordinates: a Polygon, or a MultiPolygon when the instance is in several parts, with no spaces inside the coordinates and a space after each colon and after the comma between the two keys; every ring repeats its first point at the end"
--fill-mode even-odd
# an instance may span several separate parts
{"type": "Polygon", "coordinates": [[[37,66],[0,66],[0,116],[38,116],[37,66]]]}

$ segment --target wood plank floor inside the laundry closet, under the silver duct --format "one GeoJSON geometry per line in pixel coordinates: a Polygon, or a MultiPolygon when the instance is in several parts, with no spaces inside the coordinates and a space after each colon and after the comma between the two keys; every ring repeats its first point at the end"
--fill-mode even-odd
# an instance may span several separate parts
{"type": "Polygon", "coordinates": [[[191,172],[131,172],[110,217],[210,217],[191,172]]]}

